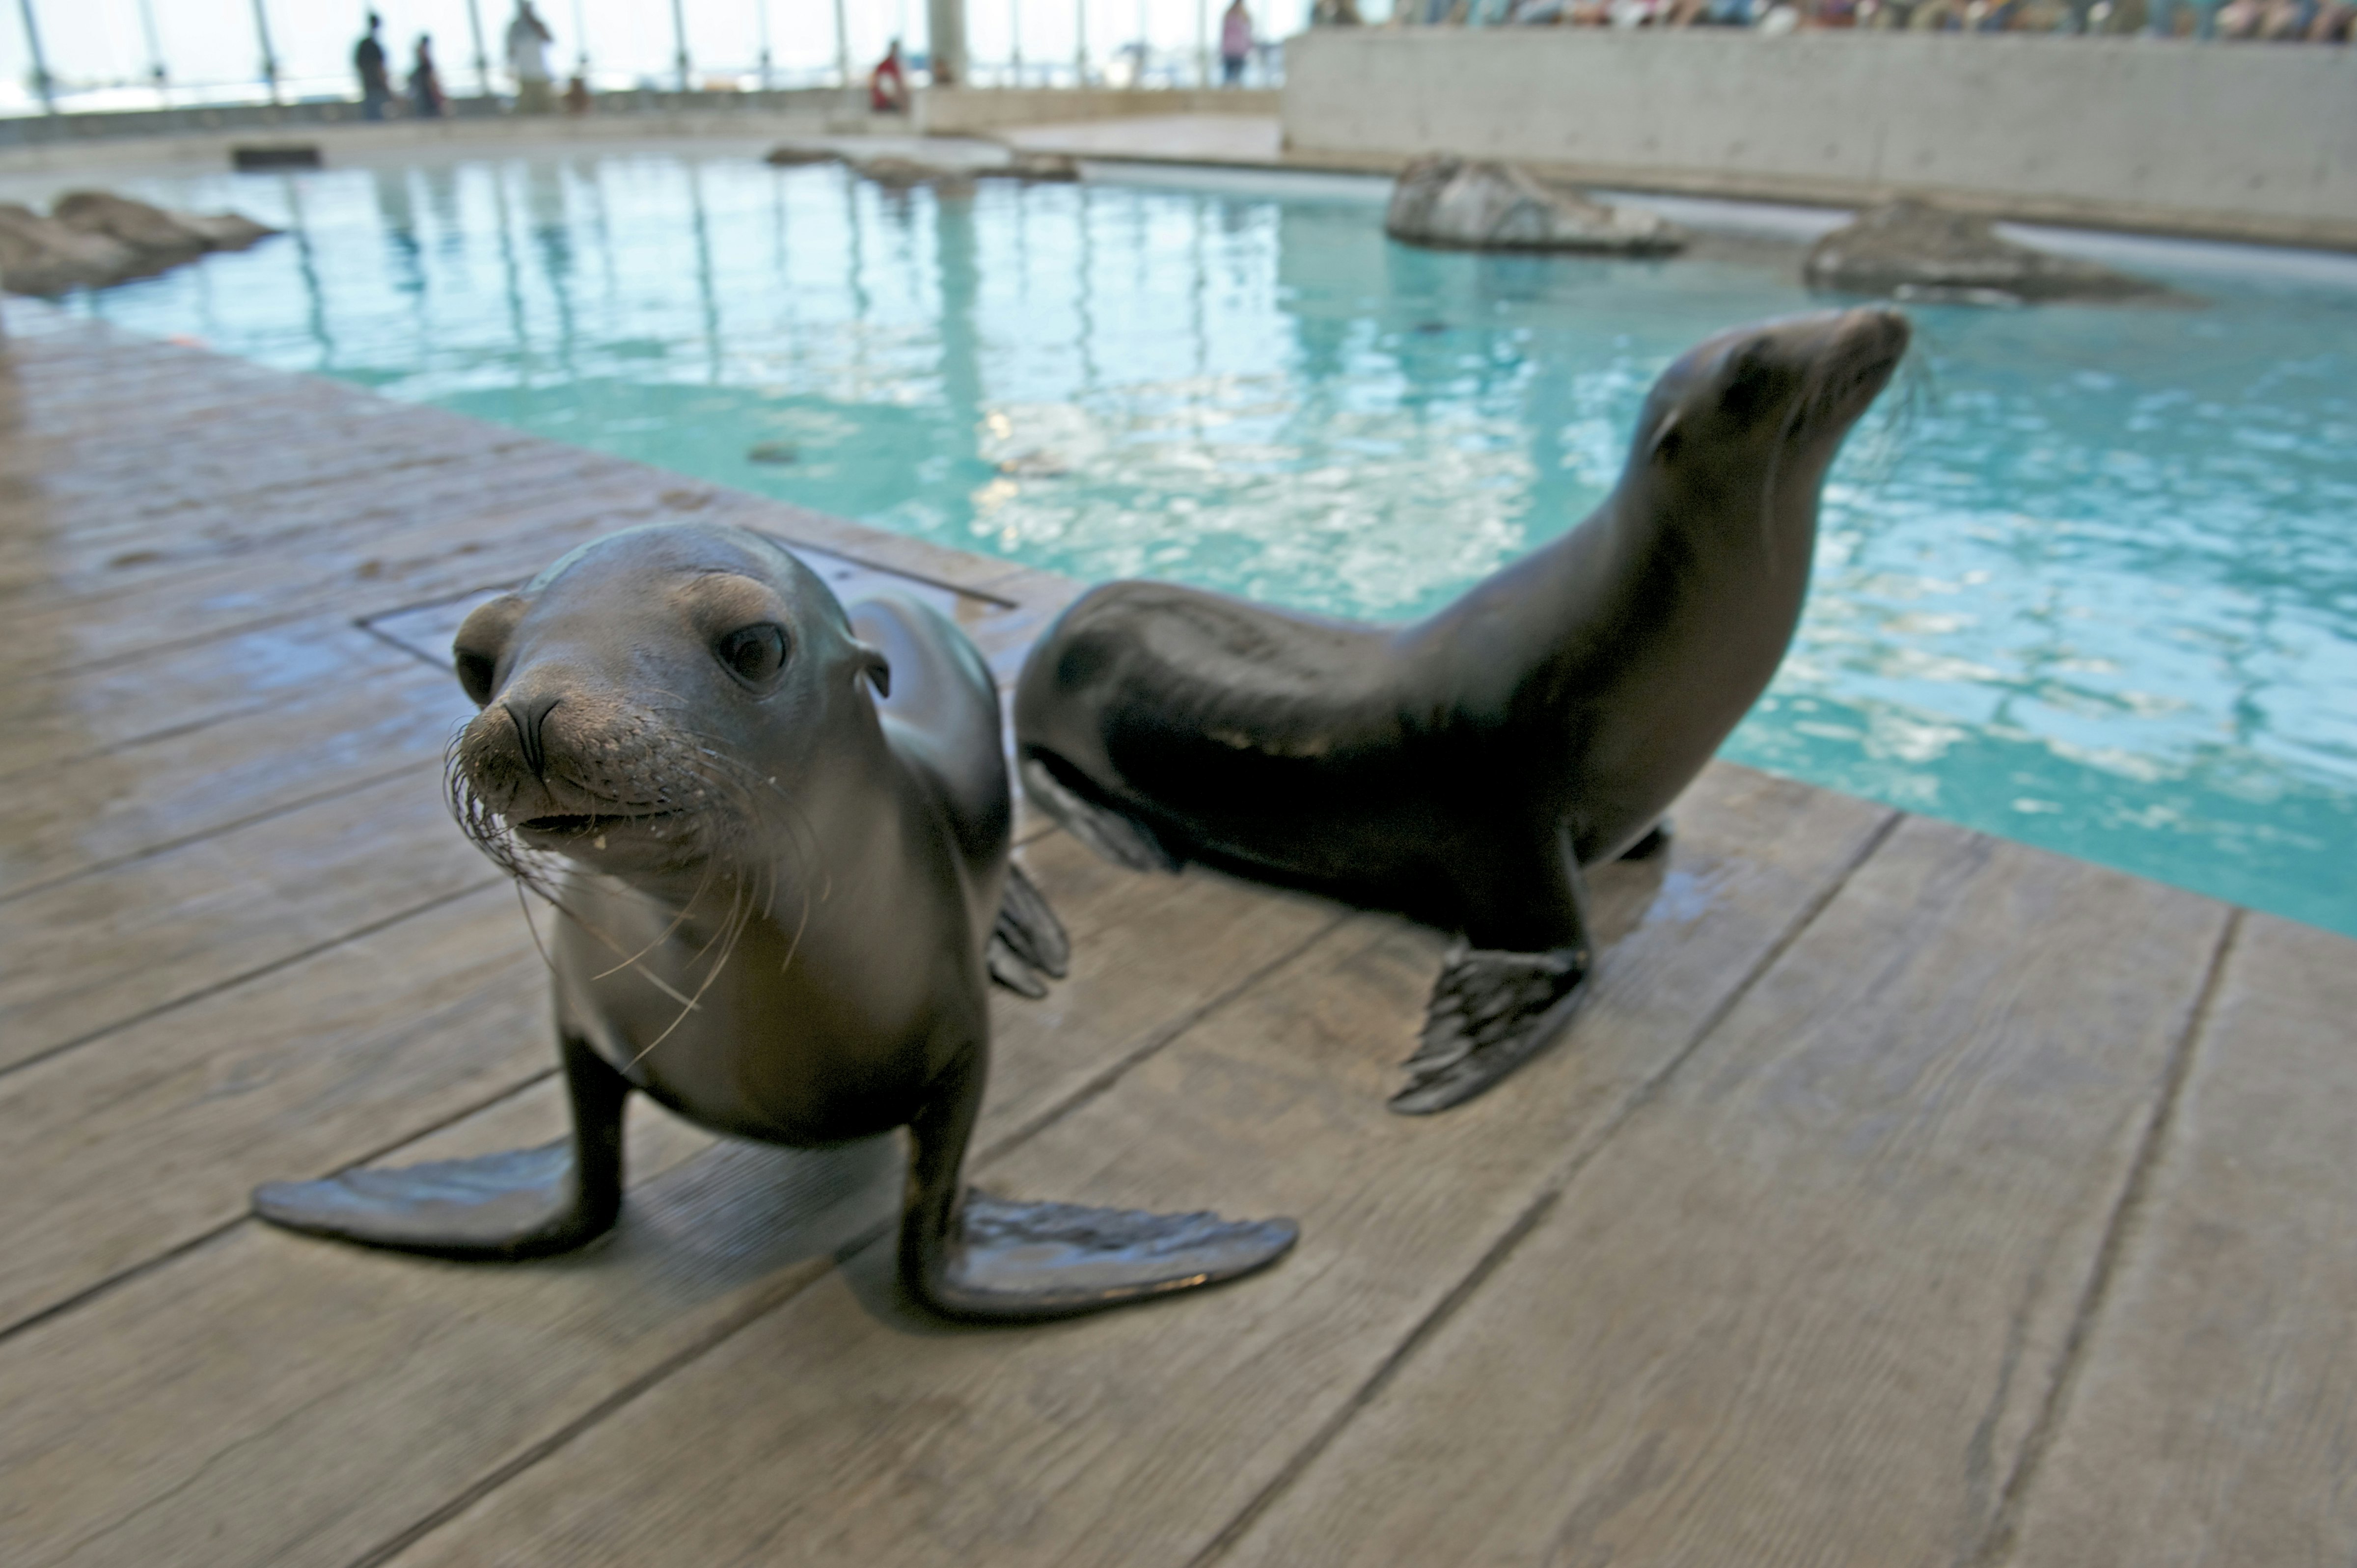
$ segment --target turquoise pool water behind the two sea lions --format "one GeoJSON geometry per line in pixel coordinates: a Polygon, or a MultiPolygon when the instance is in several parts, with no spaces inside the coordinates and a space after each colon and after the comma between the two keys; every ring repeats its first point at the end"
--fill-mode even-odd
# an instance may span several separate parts
{"type": "MultiPolygon", "coordinates": [[[[1435,255],[1379,207],[577,158],[141,193],[292,236],[75,309],[1077,578],[1405,618],[1579,521],[1789,245],[1435,255]]],[[[2133,245],[2131,245],[2133,250],[2133,245]]],[[[2357,269],[1914,309],[1728,755],[2357,934],[2357,269]]]]}

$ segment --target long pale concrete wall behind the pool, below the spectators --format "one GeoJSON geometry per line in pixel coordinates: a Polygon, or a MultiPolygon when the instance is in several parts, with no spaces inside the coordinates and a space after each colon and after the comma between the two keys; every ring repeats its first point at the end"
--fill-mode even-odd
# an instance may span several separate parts
{"type": "Polygon", "coordinates": [[[2357,50],[1940,33],[1336,28],[1287,42],[1303,160],[1468,153],[1582,179],[1895,191],[2357,248],[2357,50]]]}

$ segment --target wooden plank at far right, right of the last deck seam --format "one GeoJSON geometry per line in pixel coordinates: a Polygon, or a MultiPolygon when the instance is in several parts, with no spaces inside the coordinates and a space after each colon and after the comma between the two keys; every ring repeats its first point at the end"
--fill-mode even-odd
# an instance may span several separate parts
{"type": "Polygon", "coordinates": [[[2357,943],[2246,915],[2013,1563],[2357,1556],[2357,943]]]}

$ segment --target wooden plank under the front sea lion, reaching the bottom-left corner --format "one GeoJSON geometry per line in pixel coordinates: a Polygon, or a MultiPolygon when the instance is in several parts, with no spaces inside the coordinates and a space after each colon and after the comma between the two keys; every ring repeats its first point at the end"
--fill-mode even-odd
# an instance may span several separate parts
{"type": "MultiPolygon", "coordinates": [[[[1072,979],[1047,1004],[995,1000],[985,1146],[1021,1139],[1334,922],[1216,877],[1117,872],[1061,837],[1025,863],[1072,929],[1072,979]]],[[[556,1137],[554,1096],[526,1099],[528,1115],[396,1162],[556,1137]]],[[[146,1566],[200,1540],[214,1561],[349,1563],[806,1285],[893,1212],[891,1141],[879,1170],[858,1165],[874,1153],[839,1155],[877,1186],[837,1228],[808,1231],[780,1224],[787,1188],[841,1165],[724,1146],[646,1184],[660,1170],[636,1148],[646,1120],[632,1111],[641,1186],[625,1226],[582,1257],[462,1269],[236,1226],[0,1342],[12,1561],[146,1566]],[[358,1455],[365,1485],[351,1483],[358,1455]]],[[[676,1153],[702,1134],[662,1137],[676,1153]]],[[[193,1158],[189,1170],[207,1177],[193,1158]]]]}

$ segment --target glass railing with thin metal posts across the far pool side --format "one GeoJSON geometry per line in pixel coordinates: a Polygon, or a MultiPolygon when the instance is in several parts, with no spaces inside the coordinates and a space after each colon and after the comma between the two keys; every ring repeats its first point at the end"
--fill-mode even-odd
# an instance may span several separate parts
{"type": "MultiPolygon", "coordinates": [[[[394,97],[431,38],[441,90],[516,90],[514,0],[14,0],[0,7],[0,116],[354,101],[365,14],[384,26],[394,97]]],[[[757,92],[865,83],[903,40],[926,80],[929,0],[540,0],[563,90],[757,92]]],[[[1223,0],[966,0],[966,85],[1195,87],[1221,78],[1223,0]]],[[[1249,85],[1308,0],[1254,0],[1249,85]]]]}

